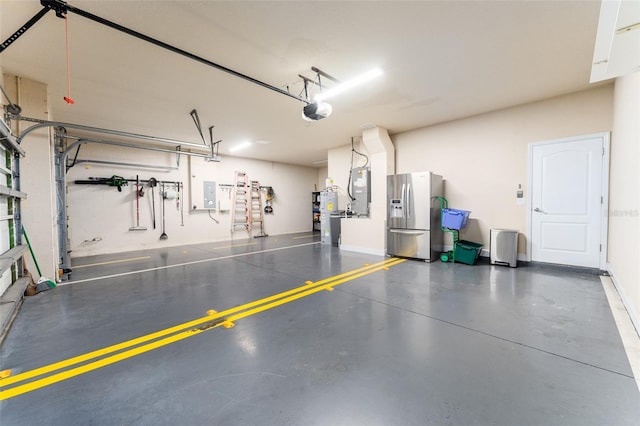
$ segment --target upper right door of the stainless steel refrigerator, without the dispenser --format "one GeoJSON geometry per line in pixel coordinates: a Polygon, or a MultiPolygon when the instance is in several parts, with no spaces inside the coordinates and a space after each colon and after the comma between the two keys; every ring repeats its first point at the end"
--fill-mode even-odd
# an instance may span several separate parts
{"type": "MultiPolygon", "coordinates": [[[[407,229],[431,229],[431,173],[407,175],[405,190],[407,229]]],[[[392,226],[389,226],[390,228],[392,226]]]]}

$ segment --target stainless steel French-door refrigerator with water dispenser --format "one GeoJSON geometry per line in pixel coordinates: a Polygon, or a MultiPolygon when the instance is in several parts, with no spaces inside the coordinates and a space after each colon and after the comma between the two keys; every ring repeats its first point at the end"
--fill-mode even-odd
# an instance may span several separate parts
{"type": "Polygon", "coordinates": [[[387,176],[387,254],[432,261],[442,252],[442,176],[415,172],[387,176]]]}

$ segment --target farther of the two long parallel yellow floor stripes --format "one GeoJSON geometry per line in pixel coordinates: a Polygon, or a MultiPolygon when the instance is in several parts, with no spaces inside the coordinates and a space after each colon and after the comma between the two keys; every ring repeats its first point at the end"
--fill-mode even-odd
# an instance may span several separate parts
{"type": "Polygon", "coordinates": [[[394,260],[395,260],[395,258],[386,259],[384,261],[377,262],[377,263],[374,263],[372,265],[367,265],[367,266],[364,266],[362,268],[358,268],[358,269],[354,269],[354,270],[351,270],[351,271],[348,271],[348,272],[344,272],[342,274],[335,275],[335,276],[329,277],[329,278],[325,278],[323,280],[320,280],[320,281],[317,281],[317,282],[314,282],[314,283],[311,283],[311,284],[305,284],[303,286],[296,287],[294,289],[287,290],[287,291],[284,291],[282,293],[275,294],[273,296],[268,296],[268,297],[265,297],[265,298],[262,298],[262,299],[259,299],[259,300],[255,300],[253,302],[246,303],[244,305],[236,306],[235,308],[231,308],[231,309],[228,309],[228,310],[223,311],[223,312],[218,312],[218,313],[216,313],[214,315],[207,315],[205,317],[200,317],[200,318],[197,318],[197,319],[192,320],[192,321],[188,321],[188,322],[185,322],[185,323],[182,323],[182,324],[178,324],[178,325],[173,326],[173,327],[166,328],[164,330],[159,330],[159,331],[156,331],[154,333],[150,333],[150,334],[147,334],[147,335],[144,335],[144,336],[141,336],[141,337],[137,337],[135,339],[127,340],[125,342],[118,343],[118,344],[115,344],[115,345],[112,345],[112,346],[107,346],[105,348],[98,349],[98,350],[95,350],[95,351],[92,351],[92,352],[88,352],[88,353],[83,354],[83,355],[78,355],[78,356],[73,357],[73,358],[68,358],[68,359],[63,360],[63,361],[59,361],[59,362],[56,362],[56,363],[53,363],[53,364],[45,365],[43,367],[36,368],[34,370],[25,371],[24,373],[16,374],[16,375],[8,377],[6,379],[0,380],[0,388],[8,386],[8,385],[11,385],[13,383],[17,383],[17,382],[20,382],[20,381],[23,381],[23,380],[30,379],[30,378],[33,378],[33,377],[36,377],[36,376],[47,374],[47,373],[50,373],[52,371],[59,370],[61,368],[70,367],[70,366],[72,366],[74,364],[78,364],[78,363],[81,363],[81,362],[89,361],[89,360],[91,360],[93,358],[97,358],[97,357],[100,357],[100,356],[108,355],[110,353],[117,352],[117,351],[129,348],[129,347],[132,347],[132,346],[136,346],[136,345],[139,345],[141,343],[145,343],[145,342],[148,342],[148,341],[151,341],[151,340],[154,340],[154,339],[158,339],[160,337],[167,336],[169,334],[176,333],[178,331],[184,330],[185,328],[195,327],[195,326],[200,325],[202,323],[205,323],[205,322],[208,322],[208,321],[212,321],[212,320],[217,319],[217,318],[221,318],[221,317],[223,317],[225,315],[231,315],[233,313],[236,313],[236,312],[239,312],[239,311],[242,311],[242,310],[245,310],[245,309],[253,308],[255,306],[258,306],[258,305],[261,305],[261,304],[264,304],[264,303],[269,303],[269,302],[272,302],[274,300],[290,296],[290,295],[295,294],[295,293],[300,292],[300,291],[309,290],[310,288],[315,287],[315,286],[321,286],[321,285],[324,285],[324,284],[328,284],[328,283],[330,283],[330,282],[332,282],[332,281],[334,281],[336,279],[341,279],[341,278],[344,278],[344,277],[348,277],[350,275],[357,274],[357,273],[360,273],[362,271],[366,271],[366,270],[371,269],[371,268],[376,268],[378,266],[385,266],[385,265],[393,262],[394,260]]]}

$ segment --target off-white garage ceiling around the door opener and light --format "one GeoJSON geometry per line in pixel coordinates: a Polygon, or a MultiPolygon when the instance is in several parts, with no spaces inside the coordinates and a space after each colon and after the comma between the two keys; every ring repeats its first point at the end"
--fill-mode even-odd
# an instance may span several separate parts
{"type": "MultiPolygon", "coordinates": [[[[366,124],[403,132],[587,89],[599,1],[69,1],[270,85],[299,94],[316,66],[347,80],[384,75],[330,101],[309,123],[304,104],[69,15],[49,12],[0,54],[4,73],[48,84],[54,120],[200,142],[189,111],[215,125],[220,154],[312,166],[366,124]]],[[[0,1],[4,41],[42,8],[0,1]]],[[[15,100],[14,100],[15,101],[15,100]]],[[[19,102],[18,102],[19,103],[19,102]]]]}

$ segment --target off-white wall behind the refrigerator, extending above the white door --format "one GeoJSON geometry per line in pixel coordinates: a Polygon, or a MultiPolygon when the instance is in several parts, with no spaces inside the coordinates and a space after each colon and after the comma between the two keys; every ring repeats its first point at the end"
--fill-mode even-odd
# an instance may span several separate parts
{"type": "MultiPolygon", "coordinates": [[[[520,231],[525,253],[529,143],[608,132],[612,128],[613,86],[392,135],[396,173],[431,170],[445,179],[449,206],[471,210],[461,238],[489,247],[491,228],[520,231]]],[[[615,143],[615,142],[613,142],[615,143]]]]}

